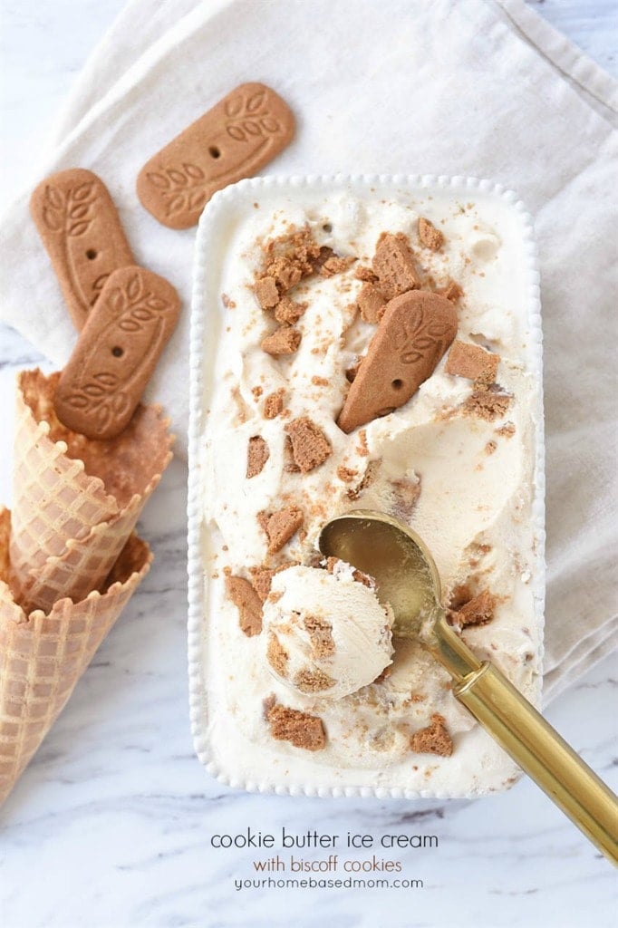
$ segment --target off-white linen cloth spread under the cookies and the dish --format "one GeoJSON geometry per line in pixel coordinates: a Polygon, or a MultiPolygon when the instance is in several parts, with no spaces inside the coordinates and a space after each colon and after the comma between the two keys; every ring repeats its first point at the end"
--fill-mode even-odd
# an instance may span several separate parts
{"type": "Polygon", "coordinates": [[[135,177],[237,84],[270,84],[297,135],[270,173],[484,176],[535,216],[547,416],[546,701],[618,642],[615,242],[618,85],[520,0],[132,0],[86,63],[32,186],[1,225],[0,316],[58,366],[76,333],[28,213],[45,174],[86,167],[135,259],[185,308],[148,388],[187,442],[195,230],[160,226],[135,177]],[[614,343],[612,343],[614,342],[614,343]],[[613,579],[613,582],[612,582],[613,579]]]}

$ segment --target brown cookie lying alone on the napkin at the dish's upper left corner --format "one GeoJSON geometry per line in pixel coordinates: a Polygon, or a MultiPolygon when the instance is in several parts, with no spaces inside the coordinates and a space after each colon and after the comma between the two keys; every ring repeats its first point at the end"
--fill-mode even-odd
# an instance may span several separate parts
{"type": "Polygon", "coordinates": [[[212,194],[257,174],[290,144],[294,126],[274,90],[241,84],[144,165],[137,196],[163,226],[195,226],[212,194]]]}

